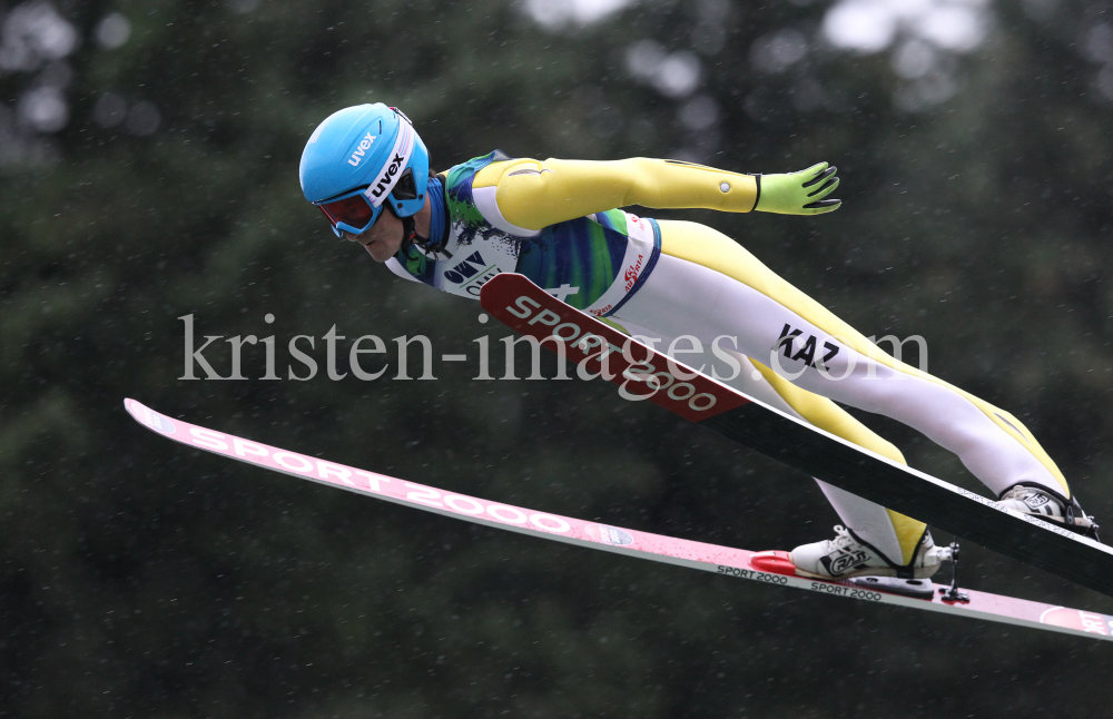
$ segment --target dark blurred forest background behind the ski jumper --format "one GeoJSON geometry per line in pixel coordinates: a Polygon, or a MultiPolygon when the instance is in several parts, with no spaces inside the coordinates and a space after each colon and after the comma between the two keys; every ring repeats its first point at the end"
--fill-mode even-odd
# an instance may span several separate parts
{"type": "MultiPolygon", "coordinates": [[[[124,411],[618,526],[831,536],[808,477],[604,383],[475,381],[474,360],[435,382],[262,381],[262,346],[250,380],[177,380],[188,314],[198,336],[276,335],[284,377],[286,342],[318,337],[323,363],[334,324],[345,355],[424,334],[474,357],[487,334],[501,366],[509,332],[477,304],[396,279],[302,199],[313,127],[384,101],[442,169],[494,148],[836,164],[834,215],[670,216],[867,335],[923,335],[934,374],[1022,417],[1113,523],[1109,6],[613,4],[0,6],[0,716],[1107,713],[1104,642],[477,529],[188,451],[124,411]]],[[[227,374],[226,343],[206,356],[227,374]]],[[[977,589],[1113,611],[964,552],[977,589]]]]}

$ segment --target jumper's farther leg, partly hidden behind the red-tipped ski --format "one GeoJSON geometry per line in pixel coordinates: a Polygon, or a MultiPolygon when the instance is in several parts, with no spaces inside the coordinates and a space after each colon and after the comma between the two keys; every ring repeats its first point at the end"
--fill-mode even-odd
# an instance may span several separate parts
{"type": "MultiPolygon", "coordinates": [[[[674,337],[664,336],[656,329],[629,321],[622,324],[622,328],[642,342],[648,341],[647,344],[654,349],[671,354],[669,349],[674,337]]],[[[687,349],[689,344],[684,343],[681,346],[687,349]]],[[[702,354],[686,352],[683,356],[677,358],[786,414],[809,422],[895,462],[906,464],[904,455],[896,446],[883,440],[827,397],[794,386],[767,367],[729,348],[726,351],[738,363],[737,373],[735,367],[717,361],[709,346],[705,345],[702,349],[702,354]]],[[[858,538],[881,552],[894,564],[906,565],[912,561],[924,535],[923,522],[868,502],[826,482],[819,480],[816,482],[843,523],[858,538]]]]}

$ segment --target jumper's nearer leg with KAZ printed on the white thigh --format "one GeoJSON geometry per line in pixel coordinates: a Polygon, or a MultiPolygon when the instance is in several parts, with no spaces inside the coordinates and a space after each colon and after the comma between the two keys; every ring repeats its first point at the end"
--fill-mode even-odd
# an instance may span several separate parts
{"type": "Polygon", "coordinates": [[[997,494],[1024,483],[1070,498],[1062,473],[1008,413],[879,351],[725,235],[660,225],[662,256],[620,322],[705,342],[737,337],[741,352],[795,385],[923,432],[997,494]]]}

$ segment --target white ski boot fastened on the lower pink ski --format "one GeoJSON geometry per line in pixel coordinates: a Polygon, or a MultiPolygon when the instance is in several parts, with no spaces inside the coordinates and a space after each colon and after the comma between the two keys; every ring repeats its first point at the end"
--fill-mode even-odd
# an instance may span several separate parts
{"type": "Polygon", "coordinates": [[[936,546],[932,533],[924,531],[912,562],[894,564],[873,546],[843,525],[835,526],[835,539],[801,544],[788,554],[796,573],[816,579],[850,577],[899,577],[926,579],[951,560],[951,548],[936,546]]]}

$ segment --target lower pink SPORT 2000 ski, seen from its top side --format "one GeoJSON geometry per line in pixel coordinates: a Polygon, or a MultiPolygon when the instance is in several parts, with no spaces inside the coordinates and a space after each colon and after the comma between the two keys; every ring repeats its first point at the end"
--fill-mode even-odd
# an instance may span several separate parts
{"type": "Polygon", "coordinates": [[[1066,607],[964,589],[961,599],[948,599],[949,590],[927,580],[857,578],[823,581],[796,577],[770,560],[747,550],[626,530],[609,524],[538,512],[522,506],[490,502],[416,482],[367,472],[353,466],[282,450],[226,432],[174,420],[135,400],[124,406],[141,425],[180,444],[247,464],[433,512],[485,526],[554,540],[577,546],[638,557],[664,564],[698,569],[721,577],[747,579],[765,584],[795,587],[821,594],[857,599],[877,604],[910,607],[1030,627],[1091,639],[1113,640],[1113,617],[1066,607]]]}

